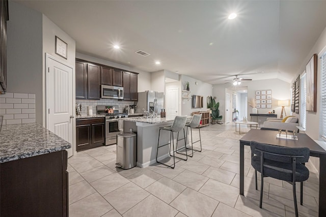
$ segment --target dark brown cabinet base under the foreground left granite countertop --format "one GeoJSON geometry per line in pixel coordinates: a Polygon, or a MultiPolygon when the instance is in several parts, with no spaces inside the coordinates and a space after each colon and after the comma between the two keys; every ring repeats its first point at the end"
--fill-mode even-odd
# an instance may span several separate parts
{"type": "Polygon", "coordinates": [[[69,216],[67,151],[0,164],[0,216],[69,216]]]}

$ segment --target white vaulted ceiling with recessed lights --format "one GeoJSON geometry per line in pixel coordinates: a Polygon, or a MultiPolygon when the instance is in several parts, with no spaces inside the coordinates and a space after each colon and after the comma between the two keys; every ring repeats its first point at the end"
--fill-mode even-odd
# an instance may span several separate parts
{"type": "Polygon", "coordinates": [[[55,22],[77,52],[211,84],[238,74],[290,81],[326,27],[326,1],[16,2],[55,22]]]}

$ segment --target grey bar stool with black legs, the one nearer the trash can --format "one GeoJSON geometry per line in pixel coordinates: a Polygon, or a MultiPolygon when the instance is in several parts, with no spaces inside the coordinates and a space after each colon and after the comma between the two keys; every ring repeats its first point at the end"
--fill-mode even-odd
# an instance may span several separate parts
{"type": "Polygon", "coordinates": [[[159,131],[158,131],[158,141],[157,141],[157,152],[156,152],[156,162],[157,163],[166,165],[166,166],[171,167],[172,169],[174,169],[174,167],[175,167],[175,158],[181,159],[183,161],[186,161],[188,159],[187,149],[186,149],[186,137],[185,137],[185,134],[184,134],[184,126],[185,126],[186,119],[187,119],[187,116],[176,116],[175,119],[174,119],[174,121],[173,121],[172,126],[170,126],[170,127],[160,127],[159,128],[159,131]],[[161,130],[170,131],[170,143],[166,143],[166,144],[163,144],[163,145],[160,145],[159,146],[159,135],[160,135],[161,130]],[[186,156],[186,159],[176,157],[175,154],[174,154],[175,149],[174,149],[174,137],[173,137],[173,133],[178,133],[178,136],[177,136],[177,144],[176,144],[176,149],[177,149],[177,147],[178,147],[178,141],[179,141],[179,132],[181,130],[183,130],[184,147],[185,147],[185,153],[186,153],[185,156],[186,156]],[[157,161],[158,148],[161,148],[161,147],[166,146],[166,145],[170,145],[170,148],[169,148],[169,150],[170,150],[169,151],[169,156],[172,157],[171,156],[171,138],[172,138],[172,145],[173,145],[173,167],[170,166],[170,165],[167,165],[167,164],[164,164],[164,163],[161,163],[161,162],[158,162],[157,161]]]}

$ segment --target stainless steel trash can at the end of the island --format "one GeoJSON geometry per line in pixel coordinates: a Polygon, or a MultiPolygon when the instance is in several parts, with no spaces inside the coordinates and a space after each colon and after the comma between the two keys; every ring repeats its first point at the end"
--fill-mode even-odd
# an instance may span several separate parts
{"type": "Polygon", "coordinates": [[[117,135],[117,163],[122,169],[136,166],[137,137],[134,133],[119,133],[117,135]]]}

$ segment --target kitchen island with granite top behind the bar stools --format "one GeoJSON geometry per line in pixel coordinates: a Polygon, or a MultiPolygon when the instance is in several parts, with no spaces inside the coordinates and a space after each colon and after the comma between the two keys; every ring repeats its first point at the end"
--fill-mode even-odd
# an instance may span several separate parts
{"type": "MultiPolygon", "coordinates": [[[[151,164],[156,163],[156,151],[158,131],[160,127],[171,126],[174,117],[130,117],[120,118],[124,120],[124,131],[137,133],[137,166],[144,168],[151,164]]],[[[191,120],[191,117],[187,119],[187,122],[191,120]]],[[[169,131],[161,131],[159,143],[166,144],[170,139],[169,131]]],[[[177,134],[174,135],[174,144],[176,144],[177,134]]],[[[179,133],[179,139],[184,138],[183,132],[179,133]]],[[[184,145],[184,140],[180,140],[178,148],[184,145]]],[[[159,149],[158,161],[167,158],[169,155],[169,146],[165,146],[159,149]]]]}

